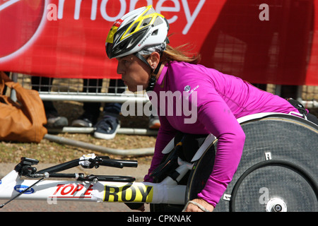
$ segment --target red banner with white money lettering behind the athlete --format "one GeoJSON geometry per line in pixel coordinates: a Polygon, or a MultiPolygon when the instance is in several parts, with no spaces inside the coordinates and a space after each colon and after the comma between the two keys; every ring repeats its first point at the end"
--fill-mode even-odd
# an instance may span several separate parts
{"type": "Polygon", "coordinates": [[[0,71],[119,78],[105,39],[114,20],[152,4],[170,44],[250,83],[318,85],[318,0],[0,0],[0,71]]]}

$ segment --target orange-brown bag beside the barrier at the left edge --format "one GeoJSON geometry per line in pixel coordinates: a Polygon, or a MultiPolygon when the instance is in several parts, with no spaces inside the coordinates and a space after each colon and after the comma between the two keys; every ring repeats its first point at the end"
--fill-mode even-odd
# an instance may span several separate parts
{"type": "Polygon", "coordinates": [[[45,109],[36,90],[23,88],[0,71],[0,141],[40,143],[47,133],[45,109]],[[5,85],[16,90],[17,102],[3,95],[5,85]]]}

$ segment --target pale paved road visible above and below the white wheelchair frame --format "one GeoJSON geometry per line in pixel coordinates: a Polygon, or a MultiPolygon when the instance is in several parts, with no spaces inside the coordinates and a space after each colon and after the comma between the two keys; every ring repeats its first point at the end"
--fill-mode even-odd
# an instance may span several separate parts
{"type": "MultiPolygon", "coordinates": [[[[11,172],[16,164],[0,164],[0,178],[11,172]]],[[[36,165],[38,170],[45,169],[51,165],[36,165]]],[[[112,167],[99,167],[98,169],[83,169],[76,167],[76,172],[85,174],[105,174],[105,175],[124,175],[136,177],[137,182],[143,181],[143,176],[148,172],[148,165],[139,165],[136,168],[117,169],[112,167]]],[[[65,172],[75,172],[66,170],[65,172]]],[[[6,200],[0,200],[5,203],[6,200]]],[[[48,204],[47,201],[25,201],[15,200],[8,203],[0,212],[122,212],[132,211],[124,203],[93,203],[93,202],[73,202],[58,201],[57,204],[48,204]]],[[[149,205],[146,205],[146,211],[149,211],[149,205]]]]}

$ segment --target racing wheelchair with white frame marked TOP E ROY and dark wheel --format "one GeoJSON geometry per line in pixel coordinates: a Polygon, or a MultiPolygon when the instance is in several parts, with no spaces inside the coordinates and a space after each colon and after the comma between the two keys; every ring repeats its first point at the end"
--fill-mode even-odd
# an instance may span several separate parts
{"type": "MultiPolygon", "coordinates": [[[[240,165],[214,211],[317,211],[318,126],[290,114],[260,113],[238,119],[246,140],[240,165]]],[[[131,160],[93,154],[41,169],[22,157],[0,181],[3,208],[13,199],[150,203],[151,211],[181,211],[213,170],[218,140],[180,133],[165,147],[153,183],[134,177],[60,173],[78,165],[137,167],[131,160]],[[66,180],[67,179],[67,180],[66,180]],[[73,179],[73,180],[69,180],[73,179]]]]}

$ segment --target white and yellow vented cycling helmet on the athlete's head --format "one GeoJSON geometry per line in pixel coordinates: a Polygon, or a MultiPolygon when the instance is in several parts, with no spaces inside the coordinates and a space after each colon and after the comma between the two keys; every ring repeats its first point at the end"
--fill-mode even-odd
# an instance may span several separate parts
{"type": "Polygon", "coordinates": [[[156,13],[153,6],[137,8],[117,19],[106,40],[106,53],[110,59],[137,54],[149,47],[161,46],[165,50],[169,23],[156,13]]]}

